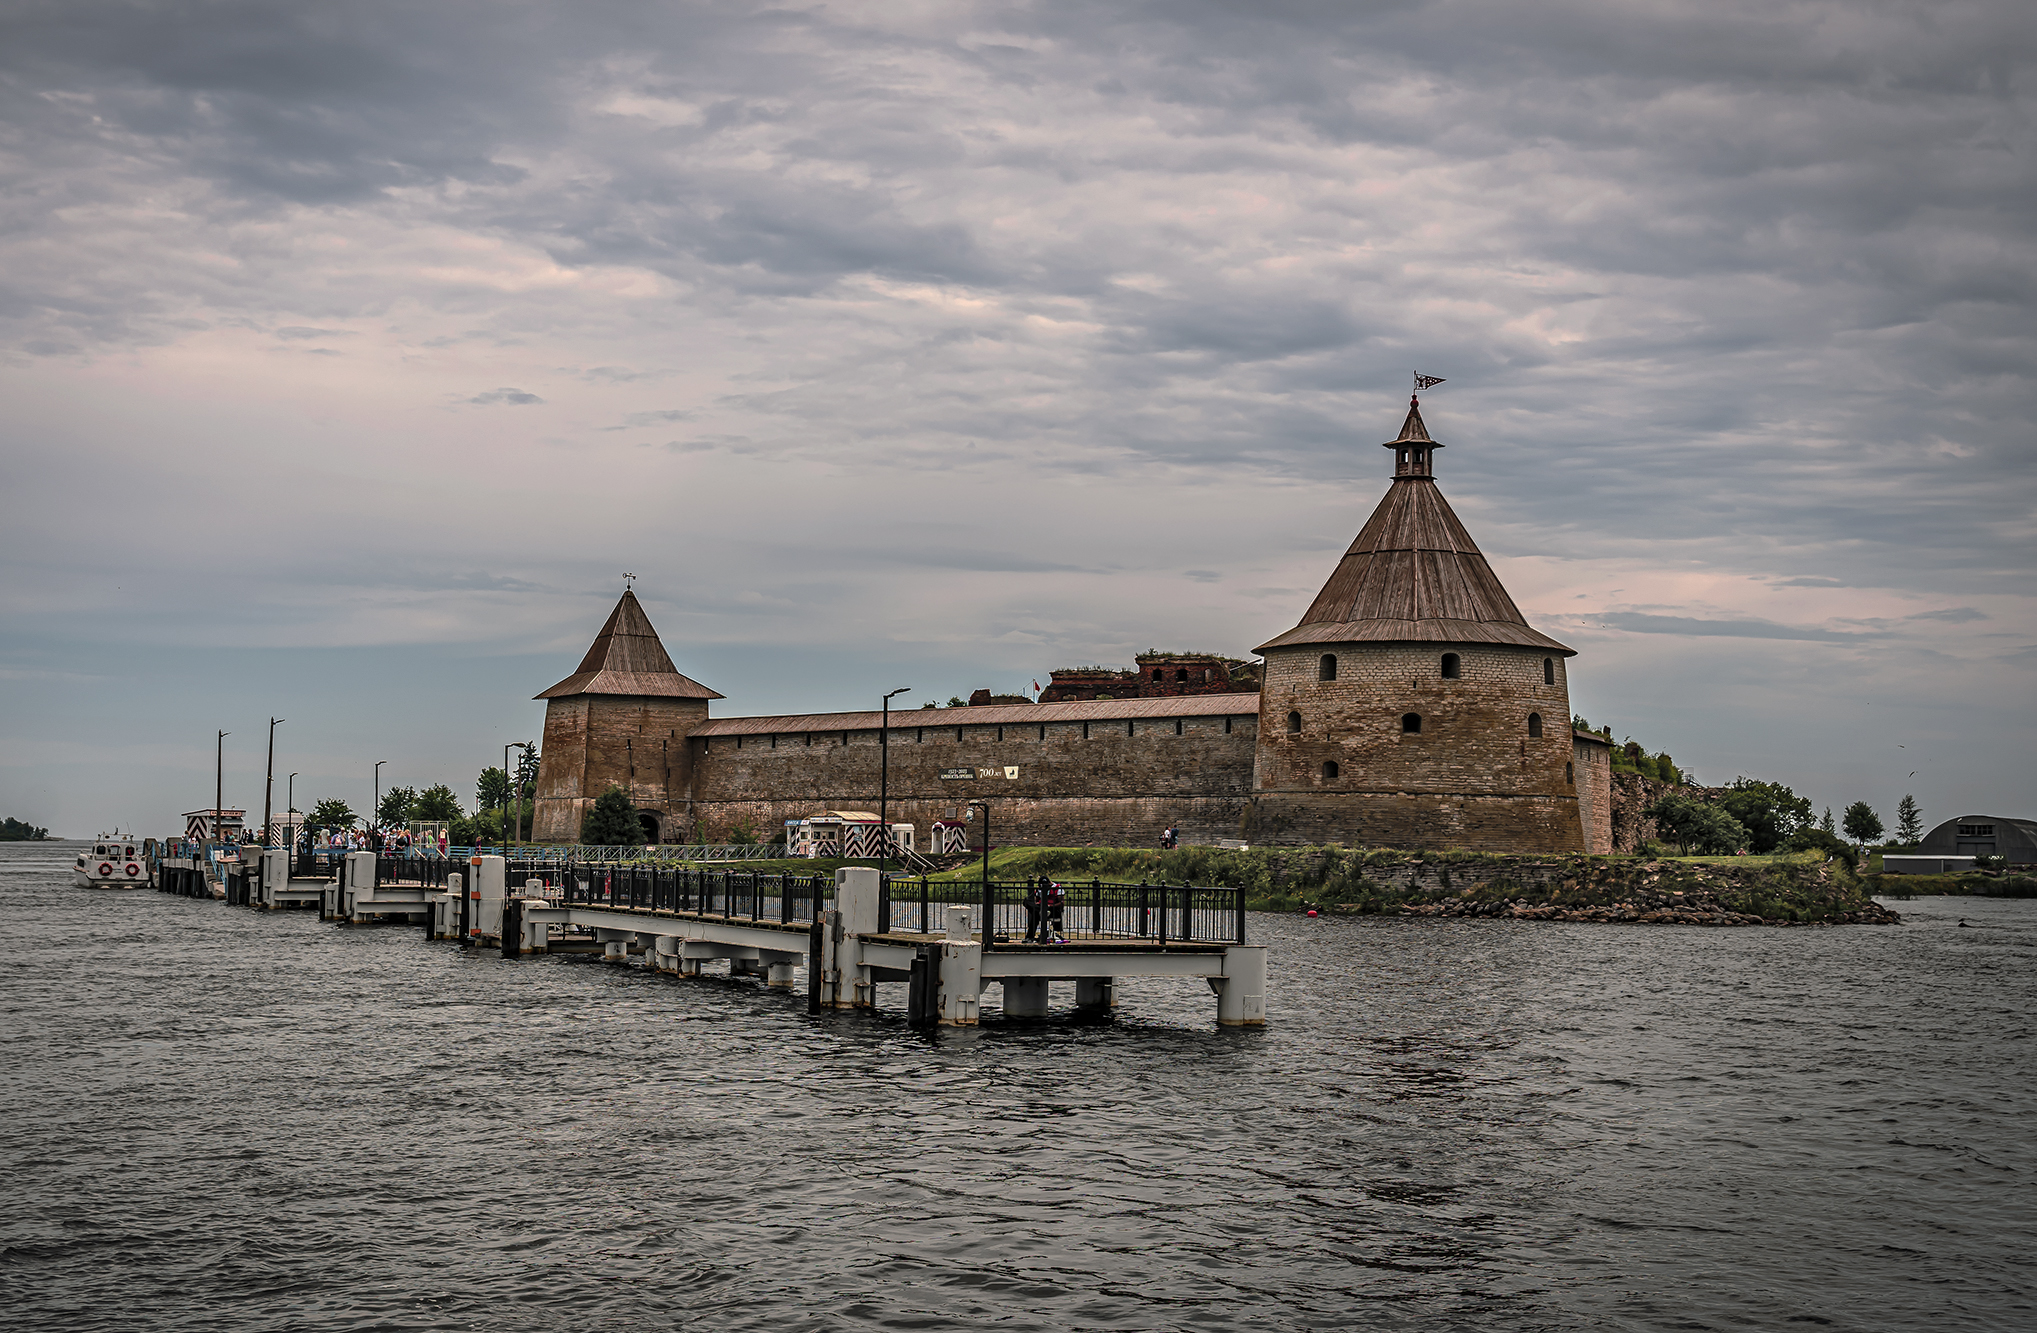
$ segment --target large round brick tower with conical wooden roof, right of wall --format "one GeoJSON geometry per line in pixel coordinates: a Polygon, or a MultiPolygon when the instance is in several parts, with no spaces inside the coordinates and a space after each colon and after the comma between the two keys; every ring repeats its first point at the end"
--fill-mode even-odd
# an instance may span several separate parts
{"type": "Polygon", "coordinates": [[[1408,408],[1393,485],[1265,656],[1245,836],[1271,844],[1581,852],[1564,664],[1507,597],[1408,408]]]}

